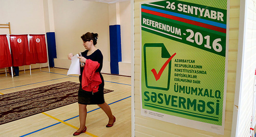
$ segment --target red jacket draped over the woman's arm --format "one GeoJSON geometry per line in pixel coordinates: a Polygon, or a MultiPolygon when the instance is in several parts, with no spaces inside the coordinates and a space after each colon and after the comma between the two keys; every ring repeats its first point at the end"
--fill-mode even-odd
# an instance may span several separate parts
{"type": "Polygon", "coordinates": [[[82,72],[82,89],[89,92],[98,92],[99,85],[102,83],[99,72],[99,63],[92,60],[86,60],[86,65],[82,72]]]}

